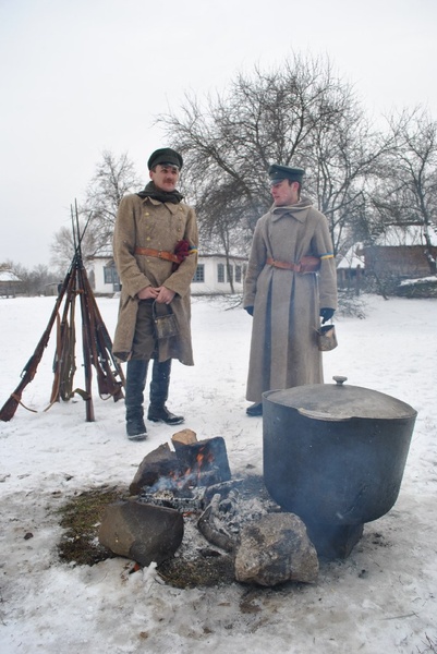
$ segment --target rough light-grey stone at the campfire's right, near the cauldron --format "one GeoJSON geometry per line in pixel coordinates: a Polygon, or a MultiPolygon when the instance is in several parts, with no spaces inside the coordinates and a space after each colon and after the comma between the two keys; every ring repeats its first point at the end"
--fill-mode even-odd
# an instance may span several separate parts
{"type": "Polygon", "coordinates": [[[235,579],[274,586],[317,579],[318,558],[305,524],[294,513],[269,513],[247,523],[235,550],[235,579]]]}

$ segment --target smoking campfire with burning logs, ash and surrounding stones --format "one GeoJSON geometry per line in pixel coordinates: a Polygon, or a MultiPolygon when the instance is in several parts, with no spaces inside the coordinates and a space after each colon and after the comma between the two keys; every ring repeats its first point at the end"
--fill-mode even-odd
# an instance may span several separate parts
{"type": "Polygon", "coordinates": [[[232,479],[223,438],[197,440],[183,429],[171,445],[143,459],[130,500],[108,507],[104,546],[157,564],[165,579],[179,567],[196,579],[206,569],[214,583],[315,580],[318,559],[305,525],[281,510],[262,477],[232,479]]]}

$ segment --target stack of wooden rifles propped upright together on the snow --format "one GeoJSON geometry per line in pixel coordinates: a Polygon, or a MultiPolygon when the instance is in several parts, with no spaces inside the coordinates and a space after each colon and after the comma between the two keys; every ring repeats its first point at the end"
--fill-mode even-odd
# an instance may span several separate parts
{"type": "Polygon", "coordinates": [[[70,400],[78,393],[85,401],[86,421],[94,422],[93,404],[93,368],[97,375],[97,388],[100,398],[113,398],[117,402],[122,399],[124,376],[120,364],[112,356],[112,341],[101,318],[93,289],[82,259],[81,243],[89,219],[82,234],[78,229],[77,204],[75,213],[72,208],[72,225],[74,239],[74,256],[66,276],[58,292],[48,325],[36,346],[27,364],[24,366],[21,382],[0,410],[0,420],[10,421],[22,402],[22,393],[35,377],[38,364],[50,339],[54,323],[57,324],[57,346],[53,359],[53,384],[50,403],[46,411],[60,399],[70,400]],[[73,390],[75,365],[75,305],[78,298],[82,314],[82,349],[85,374],[85,388],[73,390]],[[63,303],[63,307],[62,307],[63,303]],[[62,313],[61,312],[62,308],[62,313]]]}

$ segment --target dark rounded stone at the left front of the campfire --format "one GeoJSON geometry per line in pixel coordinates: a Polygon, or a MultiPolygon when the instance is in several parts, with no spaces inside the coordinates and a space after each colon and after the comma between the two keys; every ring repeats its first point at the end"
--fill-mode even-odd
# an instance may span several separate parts
{"type": "Polygon", "coordinates": [[[182,543],[183,516],[138,501],[114,502],[101,520],[99,543],[119,556],[149,566],[171,558],[182,543]]]}

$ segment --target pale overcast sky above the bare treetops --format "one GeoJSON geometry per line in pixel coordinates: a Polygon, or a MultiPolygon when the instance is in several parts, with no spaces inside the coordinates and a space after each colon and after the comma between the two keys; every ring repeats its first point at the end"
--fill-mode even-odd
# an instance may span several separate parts
{"type": "Polygon", "coordinates": [[[437,120],[436,0],[0,0],[0,263],[49,265],[105,149],[138,172],[187,92],[328,56],[372,114],[437,120]]]}

